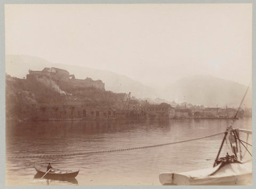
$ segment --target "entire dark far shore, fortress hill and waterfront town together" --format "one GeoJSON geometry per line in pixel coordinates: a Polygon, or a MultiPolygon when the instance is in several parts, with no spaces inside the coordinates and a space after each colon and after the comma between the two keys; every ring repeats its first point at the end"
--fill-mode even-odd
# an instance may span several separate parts
{"type": "MultiPolygon", "coordinates": [[[[159,103],[137,99],[131,93],[105,90],[105,83],[76,79],[56,67],[31,71],[26,79],[6,75],[6,119],[14,121],[74,121],[106,119],[234,118],[237,108],[205,107],[188,102],[159,103]]],[[[251,117],[243,106],[236,118],[251,117]]]]}

